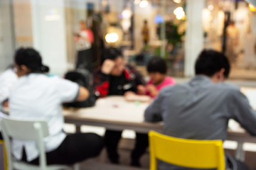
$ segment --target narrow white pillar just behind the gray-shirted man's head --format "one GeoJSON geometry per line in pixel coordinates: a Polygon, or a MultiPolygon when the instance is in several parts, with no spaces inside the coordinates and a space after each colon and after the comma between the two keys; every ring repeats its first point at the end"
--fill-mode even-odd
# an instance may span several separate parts
{"type": "Polygon", "coordinates": [[[195,62],[203,50],[203,18],[205,0],[188,0],[186,6],[187,28],[185,40],[185,76],[195,74],[195,62]]]}

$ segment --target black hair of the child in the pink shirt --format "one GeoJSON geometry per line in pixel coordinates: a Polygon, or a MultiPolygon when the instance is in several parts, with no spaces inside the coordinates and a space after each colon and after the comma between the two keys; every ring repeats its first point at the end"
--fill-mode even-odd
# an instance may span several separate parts
{"type": "Polygon", "coordinates": [[[154,56],[147,63],[146,70],[149,73],[159,72],[161,74],[166,74],[166,72],[167,72],[166,62],[161,57],[154,56]]]}

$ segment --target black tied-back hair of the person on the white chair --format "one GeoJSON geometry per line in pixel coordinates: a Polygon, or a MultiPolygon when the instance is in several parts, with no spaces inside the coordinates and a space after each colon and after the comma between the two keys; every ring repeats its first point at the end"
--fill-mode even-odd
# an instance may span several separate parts
{"type": "Polygon", "coordinates": [[[21,67],[25,65],[31,73],[49,72],[49,67],[42,64],[41,55],[33,48],[20,48],[16,51],[14,61],[21,67]]]}

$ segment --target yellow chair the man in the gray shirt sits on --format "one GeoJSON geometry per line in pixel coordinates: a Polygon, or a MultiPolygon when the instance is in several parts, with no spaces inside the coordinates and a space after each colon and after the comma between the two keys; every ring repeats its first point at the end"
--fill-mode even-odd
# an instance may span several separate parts
{"type": "Polygon", "coordinates": [[[150,170],[157,160],[195,169],[225,170],[222,140],[186,140],[149,132],[150,170]]]}

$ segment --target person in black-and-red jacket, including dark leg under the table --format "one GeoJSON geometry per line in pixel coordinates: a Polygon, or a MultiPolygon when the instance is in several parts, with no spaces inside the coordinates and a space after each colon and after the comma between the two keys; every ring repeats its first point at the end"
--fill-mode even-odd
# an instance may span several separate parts
{"type": "MultiPolygon", "coordinates": [[[[137,93],[137,86],[144,85],[142,75],[129,65],[124,65],[122,53],[114,47],[104,52],[105,61],[102,69],[95,79],[95,94],[100,97],[137,93]]],[[[122,114],[122,113],[120,113],[122,114]]],[[[117,145],[121,139],[122,131],[106,130],[105,145],[107,155],[113,164],[119,163],[117,145]]]]}

